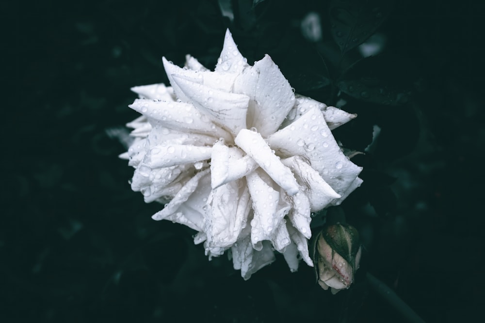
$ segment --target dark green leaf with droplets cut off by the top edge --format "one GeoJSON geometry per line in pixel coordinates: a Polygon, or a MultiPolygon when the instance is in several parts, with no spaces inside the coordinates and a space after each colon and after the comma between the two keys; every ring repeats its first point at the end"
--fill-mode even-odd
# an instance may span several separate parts
{"type": "Polygon", "coordinates": [[[392,1],[333,0],[330,3],[332,37],[343,54],[362,44],[388,16],[392,1]]]}

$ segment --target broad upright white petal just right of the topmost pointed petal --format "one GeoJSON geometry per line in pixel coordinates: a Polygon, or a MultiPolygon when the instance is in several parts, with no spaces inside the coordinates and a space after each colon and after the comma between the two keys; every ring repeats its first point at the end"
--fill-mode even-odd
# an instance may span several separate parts
{"type": "Polygon", "coordinates": [[[295,102],[290,83],[268,55],[236,78],[234,92],[249,96],[248,127],[263,137],[279,128],[295,102]]]}

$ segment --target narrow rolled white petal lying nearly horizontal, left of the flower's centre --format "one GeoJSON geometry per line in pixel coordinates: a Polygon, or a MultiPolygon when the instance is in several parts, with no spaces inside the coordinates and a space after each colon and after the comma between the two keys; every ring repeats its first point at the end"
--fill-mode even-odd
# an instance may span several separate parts
{"type": "Polygon", "coordinates": [[[146,153],[144,163],[150,168],[194,163],[210,158],[212,147],[193,145],[155,145],[146,153]]]}

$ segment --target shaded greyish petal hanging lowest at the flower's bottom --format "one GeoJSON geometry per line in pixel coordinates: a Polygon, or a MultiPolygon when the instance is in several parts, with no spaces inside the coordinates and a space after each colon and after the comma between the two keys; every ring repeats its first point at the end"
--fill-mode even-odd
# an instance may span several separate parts
{"type": "Polygon", "coordinates": [[[249,279],[252,274],[276,259],[269,241],[263,241],[261,250],[258,251],[252,248],[250,237],[235,243],[231,250],[234,269],[241,269],[244,280],[249,279]]]}

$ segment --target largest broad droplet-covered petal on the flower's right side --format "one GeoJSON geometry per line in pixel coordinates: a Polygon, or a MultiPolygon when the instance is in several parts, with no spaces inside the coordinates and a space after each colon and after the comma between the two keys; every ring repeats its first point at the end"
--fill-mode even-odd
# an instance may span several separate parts
{"type": "Polygon", "coordinates": [[[301,118],[275,132],[267,142],[282,157],[305,156],[339,195],[362,170],[342,153],[317,107],[308,109],[301,118]]]}

